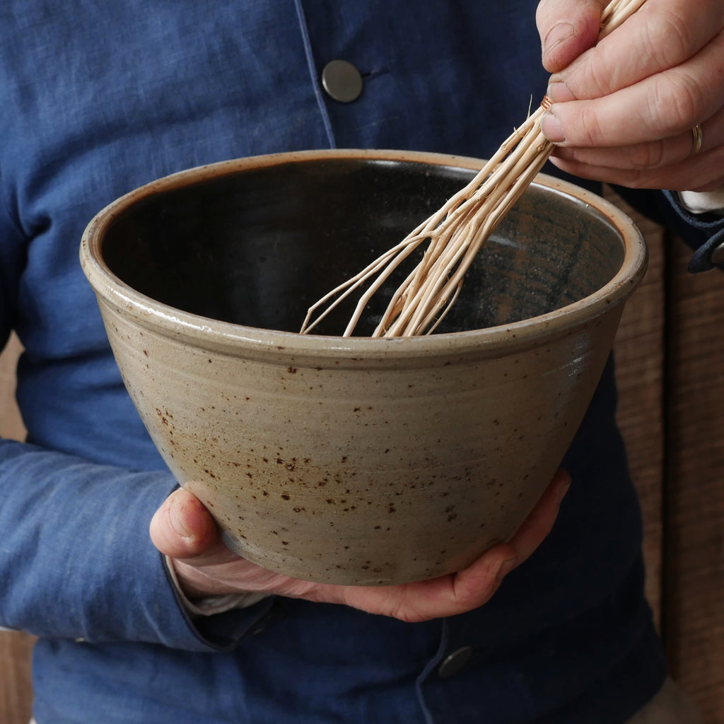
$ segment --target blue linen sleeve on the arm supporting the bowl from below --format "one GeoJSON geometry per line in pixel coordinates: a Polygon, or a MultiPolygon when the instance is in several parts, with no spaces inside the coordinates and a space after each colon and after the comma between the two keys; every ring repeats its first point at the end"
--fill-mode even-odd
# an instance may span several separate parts
{"type": "Polygon", "coordinates": [[[195,623],[148,536],[174,487],[170,473],[130,473],[1,441],[0,626],[190,651],[237,645],[274,599],[195,623]]]}

